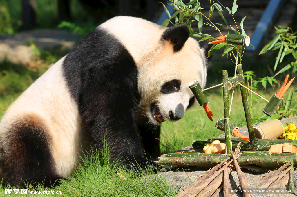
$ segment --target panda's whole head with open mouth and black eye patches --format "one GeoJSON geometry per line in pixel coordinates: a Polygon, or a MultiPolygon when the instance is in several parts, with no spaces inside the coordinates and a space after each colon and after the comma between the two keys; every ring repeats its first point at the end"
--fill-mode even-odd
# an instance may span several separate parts
{"type": "Polygon", "coordinates": [[[189,38],[184,25],[167,28],[155,50],[143,57],[138,67],[140,110],[149,122],[176,121],[197,101],[188,88],[198,80],[206,83],[206,57],[198,42],[189,38]]]}

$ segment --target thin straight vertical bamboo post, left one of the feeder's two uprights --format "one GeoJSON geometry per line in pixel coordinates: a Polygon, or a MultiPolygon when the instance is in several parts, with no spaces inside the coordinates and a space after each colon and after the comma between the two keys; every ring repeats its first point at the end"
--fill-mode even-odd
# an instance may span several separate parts
{"type": "Polygon", "coordinates": [[[228,91],[228,71],[222,70],[223,75],[223,97],[224,97],[224,121],[225,121],[225,139],[226,154],[230,154],[232,148],[230,134],[230,114],[229,114],[229,91],[228,91]]]}

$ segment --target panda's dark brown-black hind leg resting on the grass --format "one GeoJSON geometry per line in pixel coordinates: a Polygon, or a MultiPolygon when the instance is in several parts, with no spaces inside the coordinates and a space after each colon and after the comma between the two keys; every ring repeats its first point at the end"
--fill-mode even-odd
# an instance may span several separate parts
{"type": "Polygon", "coordinates": [[[40,116],[25,115],[15,121],[1,143],[0,167],[4,182],[20,186],[24,186],[24,182],[59,184],[61,177],[56,173],[51,154],[51,138],[40,116]]]}

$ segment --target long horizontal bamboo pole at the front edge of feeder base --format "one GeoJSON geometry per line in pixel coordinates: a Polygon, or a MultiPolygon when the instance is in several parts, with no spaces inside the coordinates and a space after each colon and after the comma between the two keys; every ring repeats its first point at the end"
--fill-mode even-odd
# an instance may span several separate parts
{"type": "MultiPolygon", "coordinates": [[[[281,154],[281,153],[279,153],[281,154]]],[[[210,167],[221,163],[224,159],[230,157],[225,154],[209,154],[210,156],[192,156],[192,157],[160,157],[158,165],[174,165],[174,166],[197,166],[197,167],[210,167]],[[220,155],[220,156],[218,156],[220,155]]],[[[279,167],[290,160],[297,162],[297,154],[255,154],[246,153],[238,157],[237,162],[239,165],[259,165],[266,167],[279,167]]]]}

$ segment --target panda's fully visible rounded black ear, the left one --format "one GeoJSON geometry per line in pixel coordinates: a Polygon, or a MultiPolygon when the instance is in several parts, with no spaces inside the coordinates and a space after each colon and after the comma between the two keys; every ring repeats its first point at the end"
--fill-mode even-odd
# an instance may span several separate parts
{"type": "Polygon", "coordinates": [[[188,40],[190,32],[185,25],[176,25],[168,28],[162,35],[162,41],[170,41],[173,44],[174,52],[181,50],[188,40]]]}

